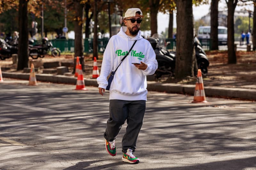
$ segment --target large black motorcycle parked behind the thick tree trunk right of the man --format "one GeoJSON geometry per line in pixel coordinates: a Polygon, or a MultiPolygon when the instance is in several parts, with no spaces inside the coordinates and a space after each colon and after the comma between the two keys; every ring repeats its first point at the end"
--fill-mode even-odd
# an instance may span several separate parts
{"type": "MultiPolygon", "coordinates": [[[[174,76],[176,52],[166,50],[165,38],[161,34],[154,34],[148,38],[148,41],[156,53],[156,60],[158,62],[155,78],[160,78],[164,75],[168,77],[174,76]]],[[[196,37],[194,38],[194,45],[198,69],[201,69],[202,75],[206,76],[208,73],[207,67],[209,66],[208,58],[196,37]]]]}

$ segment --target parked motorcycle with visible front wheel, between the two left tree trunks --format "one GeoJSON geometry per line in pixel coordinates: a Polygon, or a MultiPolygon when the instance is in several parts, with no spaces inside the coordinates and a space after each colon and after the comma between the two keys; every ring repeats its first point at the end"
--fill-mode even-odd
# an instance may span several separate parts
{"type": "Polygon", "coordinates": [[[38,57],[43,58],[49,51],[51,51],[51,54],[54,57],[60,56],[60,50],[53,47],[52,42],[50,42],[46,37],[42,39],[41,45],[33,46],[32,44],[34,43],[34,40],[32,39],[28,42],[29,56],[33,59],[37,59],[38,57]]]}

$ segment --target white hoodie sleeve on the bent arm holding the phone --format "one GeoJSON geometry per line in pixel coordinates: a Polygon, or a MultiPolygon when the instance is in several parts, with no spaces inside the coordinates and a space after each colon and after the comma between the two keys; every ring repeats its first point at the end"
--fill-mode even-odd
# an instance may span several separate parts
{"type": "Polygon", "coordinates": [[[148,51],[146,54],[147,59],[145,60],[145,63],[148,65],[148,67],[146,70],[142,70],[142,72],[143,75],[152,75],[155,73],[158,63],[156,61],[156,53],[150,44],[148,45],[148,51]]]}

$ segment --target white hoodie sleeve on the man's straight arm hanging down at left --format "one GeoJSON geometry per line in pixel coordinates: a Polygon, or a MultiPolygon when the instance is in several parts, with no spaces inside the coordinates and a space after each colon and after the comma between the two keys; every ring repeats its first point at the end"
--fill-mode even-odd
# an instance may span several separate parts
{"type": "Polygon", "coordinates": [[[108,86],[107,77],[110,72],[113,70],[113,62],[114,61],[114,47],[113,47],[113,39],[109,39],[108,45],[103,54],[103,60],[100,69],[100,76],[97,78],[97,83],[100,88],[106,89],[108,86]]]}

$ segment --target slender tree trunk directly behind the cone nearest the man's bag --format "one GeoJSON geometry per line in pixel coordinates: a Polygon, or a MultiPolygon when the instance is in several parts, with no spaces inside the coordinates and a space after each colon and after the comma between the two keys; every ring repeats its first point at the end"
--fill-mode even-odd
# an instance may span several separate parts
{"type": "Polygon", "coordinates": [[[98,7],[97,7],[97,0],[94,1],[94,9],[93,9],[93,20],[94,20],[94,27],[93,27],[93,57],[96,57],[98,59],[98,31],[97,31],[97,25],[98,25],[98,7]]]}

